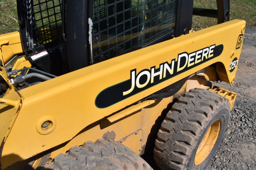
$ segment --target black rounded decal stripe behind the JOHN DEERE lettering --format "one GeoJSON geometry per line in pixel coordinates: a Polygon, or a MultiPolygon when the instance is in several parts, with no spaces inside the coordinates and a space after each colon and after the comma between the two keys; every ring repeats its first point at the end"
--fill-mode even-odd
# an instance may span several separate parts
{"type": "MultiPolygon", "coordinates": [[[[197,51],[199,51],[199,50],[197,50],[197,51]]],[[[197,52],[197,51],[194,51],[194,52],[197,52]]],[[[129,90],[131,88],[131,83],[132,83],[131,79],[123,81],[123,82],[121,82],[119,84],[115,84],[115,85],[110,86],[108,88],[105,88],[96,97],[96,99],[95,99],[95,106],[98,107],[98,108],[109,107],[109,106],[111,106],[111,105],[113,105],[113,104],[115,104],[117,102],[120,102],[120,101],[122,101],[122,100],[124,100],[124,99],[126,99],[128,97],[131,97],[131,96],[133,96],[133,95],[135,95],[137,93],[140,93],[143,90],[146,90],[146,89],[148,89],[150,87],[153,87],[153,86],[155,86],[155,85],[157,85],[159,83],[162,83],[162,82],[164,82],[164,81],[166,81],[166,80],[168,80],[168,79],[170,79],[170,78],[172,78],[172,77],[174,77],[174,76],[176,76],[178,74],[181,74],[181,73],[183,73],[185,71],[188,71],[188,70],[190,70],[190,69],[192,69],[192,68],[194,68],[194,67],[196,67],[196,66],[198,66],[198,65],[200,65],[200,64],[202,64],[204,62],[207,62],[207,61],[209,61],[209,60],[211,60],[211,59],[213,59],[215,57],[218,57],[222,53],[222,51],[223,51],[223,45],[222,44],[218,45],[218,46],[215,46],[213,48],[213,56],[212,57],[210,57],[209,59],[204,59],[203,61],[200,61],[199,63],[196,63],[193,66],[185,67],[183,70],[180,70],[179,72],[177,72],[178,61],[175,61],[174,62],[173,74],[170,74],[168,71],[166,71],[166,77],[162,78],[161,80],[159,80],[159,75],[157,75],[157,76],[154,77],[154,83],[149,82],[143,88],[138,88],[136,86],[136,84],[135,84],[135,87],[134,87],[133,91],[131,93],[125,95],[125,96],[123,96],[123,92],[127,91],[127,90],[129,90]]],[[[181,66],[183,66],[185,64],[185,63],[182,63],[182,62],[185,62],[185,61],[181,61],[181,63],[180,63],[181,66]]],[[[165,63],[168,63],[168,62],[165,62],[165,63]]],[[[172,63],[172,61],[170,63],[168,63],[170,68],[172,68],[172,64],[171,63],[172,63]]],[[[164,63],[162,63],[162,64],[164,64],[164,63]]],[[[136,69],[134,69],[134,70],[136,70],[136,69]]],[[[131,73],[134,70],[131,70],[131,73]]],[[[142,71],[150,71],[151,72],[151,70],[148,70],[148,69],[144,69],[142,71]]],[[[140,71],[140,73],[142,71],[140,71]]],[[[158,72],[158,71],[159,71],[159,68],[155,69],[155,72],[158,72]]],[[[138,74],[135,73],[136,77],[137,77],[138,74]]],[[[141,76],[140,83],[143,84],[144,82],[146,82],[146,79],[147,79],[147,76],[141,76]]]]}

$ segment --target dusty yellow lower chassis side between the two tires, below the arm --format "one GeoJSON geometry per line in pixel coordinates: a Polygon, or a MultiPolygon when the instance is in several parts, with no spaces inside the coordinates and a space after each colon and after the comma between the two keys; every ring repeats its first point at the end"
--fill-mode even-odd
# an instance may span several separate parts
{"type": "MultiPolygon", "coordinates": [[[[142,155],[148,140],[148,134],[154,134],[158,131],[158,127],[152,126],[154,124],[156,126],[158,126],[159,123],[161,124],[161,122],[157,122],[156,120],[161,114],[165,115],[168,112],[166,107],[172,101],[173,97],[162,100],[157,99],[152,105],[134,112],[131,116],[126,117],[125,119],[114,123],[105,119],[99,123],[90,125],[83,130],[84,132],[74,137],[61,148],[59,148],[59,146],[54,148],[54,150],[56,150],[51,153],[50,158],[55,158],[55,156],[60,153],[66,153],[69,148],[75,145],[82,145],[85,141],[92,140],[94,142],[97,139],[101,139],[105,133],[111,131],[113,131],[111,133],[114,134],[114,138],[110,137],[111,139],[114,139],[115,141],[123,140],[122,144],[132,149],[138,155],[142,155]]],[[[152,138],[152,136],[150,138],[152,138]]]]}

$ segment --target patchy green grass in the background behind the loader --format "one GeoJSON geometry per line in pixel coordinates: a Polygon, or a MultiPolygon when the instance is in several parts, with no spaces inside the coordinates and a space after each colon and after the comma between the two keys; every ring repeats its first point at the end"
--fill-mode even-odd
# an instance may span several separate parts
{"type": "MultiPolygon", "coordinates": [[[[217,9],[216,0],[195,0],[194,6],[217,9]]],[[[232,19],[246,20],[246,27],[256,26],[256,0],[230,1],[230,20],[232,19]]],[[[193,17],[194,30],[207,28],[215,24],[217,24],[216,18],[193,17]]],[[[0,34],[18,30],[16,0],[0,0],[0,34]]]]}

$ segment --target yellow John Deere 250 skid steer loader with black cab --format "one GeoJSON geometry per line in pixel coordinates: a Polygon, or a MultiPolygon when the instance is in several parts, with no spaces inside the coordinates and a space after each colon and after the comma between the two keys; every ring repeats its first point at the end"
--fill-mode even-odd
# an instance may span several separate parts
{"type": "Polygon", "coordinates": [[[206,168],[236,99],[211,81],[234,82],[245,30],[216,2],[17,0],[20,31],[0,35],[1,169],[206,168]],[[218,24],[194,32],[193,15],[218,24]]]}

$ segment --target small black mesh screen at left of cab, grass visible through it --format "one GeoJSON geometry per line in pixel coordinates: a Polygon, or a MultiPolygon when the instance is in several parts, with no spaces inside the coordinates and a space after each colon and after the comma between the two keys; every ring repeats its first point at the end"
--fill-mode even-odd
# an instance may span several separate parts
{"type": "Polygon", "coordinates": [[[33,0],[32,22],[36,46],[58,38],[61,27],[61,0],[33,0]]]}

